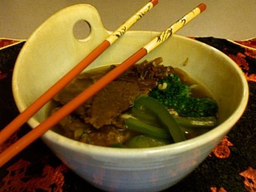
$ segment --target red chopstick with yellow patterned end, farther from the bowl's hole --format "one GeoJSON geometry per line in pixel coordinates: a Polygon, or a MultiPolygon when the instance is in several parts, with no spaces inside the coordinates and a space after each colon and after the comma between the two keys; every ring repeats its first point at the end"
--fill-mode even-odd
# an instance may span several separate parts
{"type": "Polygon", "coordinates": [[[81,94],[76,96],[69,103],[58,109],[54,114],[44,120],[44,122],[31,130],[31,132],[27,133],[21,139],[17,140],[17,142],[12,146],[4,150],[0,154],[0,167],[3,166],[9,159],[14,157],[17,153],[19,153],[19,151],[23,150],[26,146],[34,142],[34,140],[44,134],[48,129],[60,122],[60,120],[63,119],[66,115],[73,112],[78,106],[86,102],[86,100],[99,92],[107,84],[111,83],[116,77],[125,72],[126,69],[131,67],[142,57],[151,52],[154,48],[165,42],[172,34],[181,29],[185,24],[189,23],[193,18],[204,11],[205,8],[205,4],[200,4],[199,6],[195,7],[191,12],[180,18],[176,23],[163,31],[160,35],[157,35],[155,38],[153,38],[151,42],[124,60],[124,62],[119,66],[112,69],[109,73],[85,89],[81,94]]]}

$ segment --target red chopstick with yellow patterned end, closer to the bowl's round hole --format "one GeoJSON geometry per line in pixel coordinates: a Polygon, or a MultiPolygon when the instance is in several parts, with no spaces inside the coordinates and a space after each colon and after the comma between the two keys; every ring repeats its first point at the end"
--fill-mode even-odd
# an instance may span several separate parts
{"type": "Polygon", "coordinates": [[[40,108],[42,108],[49,100],[51,100],[61,89],[71,82],[85,67],[91,64],[98,56],[100,56],[107,48],[110,47],[117,39],[119,39],[133,24],[149,12],[158,0],[151,0],[145,4],[139,11],[125,21],[111,35],[109,35],[99,46],[97,46],[90,54],[88,54],[80,63],[78,63],[70,72],[63,76],[57,83],[48,89],[42,96],[29,105],[21,114],[19,114],[11,123],[9,123],[0,132],[0,145],[7,140],[19,127],[27,122],[40,108]]]}

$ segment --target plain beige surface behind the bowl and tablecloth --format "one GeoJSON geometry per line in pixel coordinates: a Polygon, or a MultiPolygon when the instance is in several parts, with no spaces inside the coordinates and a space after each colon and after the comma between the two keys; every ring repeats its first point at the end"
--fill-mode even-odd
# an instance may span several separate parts
{"type": "MultiPolygon", "coordinates": [[[[147,0],[1,0],[0,37],[27,39],[48,17],[80,3],[93,5],[107,30],[114,31],[147,0]]],[[[163,31],[191,9],[205,3],[206,11],[182,28],[184,36],[213,36],[233,40],[255,37],[255,0],[159,0],[131,30],[163,31]]]]}

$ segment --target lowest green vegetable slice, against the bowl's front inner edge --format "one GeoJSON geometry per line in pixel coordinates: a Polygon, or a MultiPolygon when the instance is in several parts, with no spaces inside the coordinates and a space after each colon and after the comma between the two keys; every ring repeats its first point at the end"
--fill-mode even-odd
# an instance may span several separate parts
{"type": "Polygon", "coordinates": [[[128,148],[157,147],[168,144],[171,144],[169,139],[155,138],[149,135],[135,136],[125,143],[128,148]]]}

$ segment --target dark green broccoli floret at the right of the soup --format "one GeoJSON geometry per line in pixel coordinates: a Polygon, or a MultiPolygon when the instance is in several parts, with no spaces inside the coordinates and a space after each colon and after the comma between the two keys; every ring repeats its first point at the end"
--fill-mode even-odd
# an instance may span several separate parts
{"type": "Polygon", "coordinates": [[[149,96],[185,116],[215,116],[218,111],[218,105],[212,98],[191,97],[191,88],[183,84],[179,76],[174,74],[160,80],[150,91],[149,96]]]}

